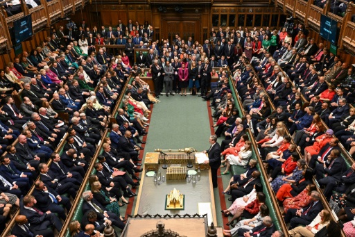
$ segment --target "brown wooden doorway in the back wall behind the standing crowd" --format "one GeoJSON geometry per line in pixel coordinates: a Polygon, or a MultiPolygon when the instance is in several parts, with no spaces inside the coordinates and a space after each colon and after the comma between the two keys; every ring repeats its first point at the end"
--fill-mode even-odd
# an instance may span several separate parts
{"type": "Polygon", "coordinates": [[[201,25],[200,19],[168,19],[162,18],[162,38],[168,38],[169,42],[175,39],[175,35],[180,35],[182,40],[187,41],[189,36],[192,37],[193,42],[198,40],[200,42],[201,25]]]}

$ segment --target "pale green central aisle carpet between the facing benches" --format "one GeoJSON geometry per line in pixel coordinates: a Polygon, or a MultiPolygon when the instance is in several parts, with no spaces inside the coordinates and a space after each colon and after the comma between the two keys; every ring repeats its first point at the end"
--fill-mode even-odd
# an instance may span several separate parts
{"type": "MultiPolygon", "coordinates": [[[[159,104],[154,104],[144,156],[154,149],[184,149],[193,147],[199,152],[209,148],[211,124],[207,103],[200,97],[175,95],[160,96],[159,104]]],[[[223,226],[220,213],[218,188],[214,189],[218,226],[223,226]]]]}

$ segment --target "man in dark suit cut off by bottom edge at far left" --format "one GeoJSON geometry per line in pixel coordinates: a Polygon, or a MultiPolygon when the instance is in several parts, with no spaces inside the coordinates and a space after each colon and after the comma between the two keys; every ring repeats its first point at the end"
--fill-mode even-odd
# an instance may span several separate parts
{"type": "Polygon", "coordinates": [[[21,237],[54,237],[51,229],[35,230],[28,224],[26,215],[17,215],[15,218],[16,224],[11,229],[11,234],[21,237]]]}

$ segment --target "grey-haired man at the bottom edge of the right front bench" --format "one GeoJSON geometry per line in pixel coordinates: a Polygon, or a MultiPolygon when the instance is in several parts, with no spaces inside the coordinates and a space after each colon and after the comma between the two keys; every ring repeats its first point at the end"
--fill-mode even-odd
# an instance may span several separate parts
{"type": "Polygon", "coordinates": [[[239,229],[238,236],[251,237],[251,236],[271,236],[276,230],[275,224],[273,224],[270,216],[263,218],[263,224],[254,227],[253,229],[239,229]]]}

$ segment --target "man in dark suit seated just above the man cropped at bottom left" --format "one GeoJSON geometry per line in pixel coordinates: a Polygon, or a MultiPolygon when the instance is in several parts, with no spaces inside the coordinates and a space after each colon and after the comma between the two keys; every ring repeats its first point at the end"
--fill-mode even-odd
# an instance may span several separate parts
{"type": "Polygon", "coordinates": [[[34,205],[36,202],[35,197],[32,195],[25,196],[23,201],[24,206],[20,209],[21,215],[26,216],[34,231],[43,231],[54,226],[60,232],[63,224],[59,218],[54,213],[51,213],[51,211],[42,212],[35,208],[34,205]]]}

